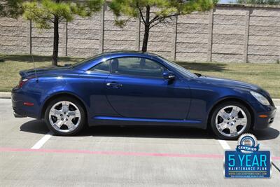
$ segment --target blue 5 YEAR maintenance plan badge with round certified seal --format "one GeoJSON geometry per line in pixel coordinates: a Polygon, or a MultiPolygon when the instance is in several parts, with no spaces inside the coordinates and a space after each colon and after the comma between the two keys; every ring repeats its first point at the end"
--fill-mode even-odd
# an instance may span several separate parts
{"type": "Polygon", "coordinates": [[[269,151],[259,151],[253,134],[242,134],[235,151],[225,151],[225,178],[269,178],[269,151]]]}

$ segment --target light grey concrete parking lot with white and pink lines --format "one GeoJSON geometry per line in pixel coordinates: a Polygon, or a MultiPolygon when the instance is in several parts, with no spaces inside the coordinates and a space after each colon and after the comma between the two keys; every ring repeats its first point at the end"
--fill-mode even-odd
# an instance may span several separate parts
{"type": "MultiPolygon", "coordinates": [[[[279,186],[280,111],[255,131],[272,153],[271,179],[224,179],[225,149],[206,130],[185,127],[90,127],[52,135],[41,120],[14,118],[0,99],[0,186],[279,186]]],[[[279,106],[277,107],[279,108],[279,106]]]]}

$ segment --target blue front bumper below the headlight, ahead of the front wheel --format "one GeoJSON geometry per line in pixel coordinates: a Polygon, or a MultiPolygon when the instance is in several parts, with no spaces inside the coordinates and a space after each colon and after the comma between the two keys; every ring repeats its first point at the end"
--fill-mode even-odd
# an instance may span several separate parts
{"type": "Polygon", "coordinates": [[[275,118],[276,107],[269,106],[268,111],[256,113],[255,115],[255,124],[253,125],[253,130],[260,130],[269,127],[275,118]],[[265,115],[267,117],[260,117],[260,115],[265,115]]]}

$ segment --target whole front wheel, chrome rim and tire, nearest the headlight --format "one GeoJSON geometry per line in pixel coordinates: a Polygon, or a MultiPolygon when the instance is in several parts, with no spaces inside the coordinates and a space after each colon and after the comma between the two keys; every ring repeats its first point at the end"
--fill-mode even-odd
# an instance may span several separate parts
{"type": "Polygon", "coordinates": [[[225,102],[214,109],[211,116],[211,128],[221,139],[237,139],[248,132],[251,126],[251,114],[239,102],[225,102]]]}

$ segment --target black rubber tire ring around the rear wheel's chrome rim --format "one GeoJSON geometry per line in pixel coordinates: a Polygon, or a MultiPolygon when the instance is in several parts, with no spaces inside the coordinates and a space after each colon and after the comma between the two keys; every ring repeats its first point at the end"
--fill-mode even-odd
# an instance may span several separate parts
{"type": "Polygon", "coordinates": [[[48,128],[55,134],[60,135],[60,136],[71,136],[71,135],[78,134],[78,132],[83,130],[83,127],[85,126],[85,123],[86,123],[85,110],[83,109],[82,104],[80,104],[80,102],[77,99],[74,99],[72,97],[57,97],[56,99],[53,99],[48,104],[48,108],[45,110],[45,119],[44,120],[45,120],[45,123],[48,126],[48,128]],[[71,103],[75,104],[76,107],[78,107],[78,110],[80,111],[80,123],[78,123],[78,126],[76,126],[76,128],[70,132],[61,132],[59,130],[56,130],[55,127],[52,127],[52,125],[50,123],[50,119],[49,119],[50,109],[52,109],[52,106],[57,104],[57,102],[62,102],[62,101],[71,102],[71,103]]]}

